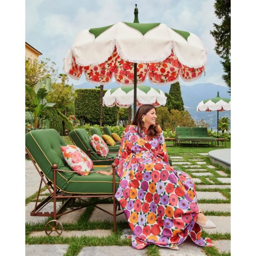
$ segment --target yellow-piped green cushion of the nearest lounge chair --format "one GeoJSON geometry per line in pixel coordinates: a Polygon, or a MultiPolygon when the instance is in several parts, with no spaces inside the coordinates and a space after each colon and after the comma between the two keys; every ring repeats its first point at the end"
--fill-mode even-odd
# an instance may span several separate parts
{"type": "MultiPolygon", "coordinates": [[[[72,171],[61,152],[61,146],[65,146],[66,143],[56,130],[32,130],[25,136],[26,149],[48,180],[53,182],[52,165],[54,163],[58,165],[58,169],[71,171],[56,173],[56,185],[62,191],[82,194],[113,193],[112,175],[91,173],[88,176],[80,176],[72,171]]],[[[95,167],[92,171],[98,169],[107,169],[107,167],[95,167]]],[[[116,175],[116,189],[118,184],[119,178],[116,175]]]]}

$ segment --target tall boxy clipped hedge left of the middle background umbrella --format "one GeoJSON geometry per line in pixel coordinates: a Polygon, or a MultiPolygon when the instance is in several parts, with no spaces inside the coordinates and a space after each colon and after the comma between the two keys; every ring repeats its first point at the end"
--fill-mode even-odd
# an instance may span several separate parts
{"type": "MultiPolygon", "coordinates": [[[[100,89],[76,89],[75,116],[79,120],[83,119],[86,124],[100,124],[100,89]]],[[[103,126],[115,126],[117,120],[117,106],[103,107],[103,126]]]]}

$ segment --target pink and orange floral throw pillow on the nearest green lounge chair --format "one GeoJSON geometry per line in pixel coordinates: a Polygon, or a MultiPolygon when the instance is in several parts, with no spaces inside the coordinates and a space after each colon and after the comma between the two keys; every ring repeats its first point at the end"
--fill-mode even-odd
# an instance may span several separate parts
{"type": "Polygon", "coordinates": [[[89,171],[93,169],[93,162],[85,152],[75,145],[61,146],[61,151],[73,171],[81,176],[89,175],[89,171]]]}

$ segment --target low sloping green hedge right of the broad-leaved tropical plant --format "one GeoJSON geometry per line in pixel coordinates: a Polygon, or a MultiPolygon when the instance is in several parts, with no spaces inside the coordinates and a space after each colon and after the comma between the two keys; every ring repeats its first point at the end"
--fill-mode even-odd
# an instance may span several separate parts
{"type": "Polygon", "coordinates": [[[73,130],[73,124],[56,108],[46,110],[46,119],[50,121],[50,128],[55,129],[61,136],[65,135],[65,130],[73,130]]]}

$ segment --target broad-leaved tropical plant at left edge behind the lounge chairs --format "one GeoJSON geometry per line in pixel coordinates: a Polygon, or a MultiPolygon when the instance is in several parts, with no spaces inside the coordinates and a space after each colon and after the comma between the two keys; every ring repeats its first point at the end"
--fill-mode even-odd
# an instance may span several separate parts
{"type": "Polygon", "coordinates": [[[30,111],[33,116],[33,127],[35,129],[39,128],[39,121],[41,118],[41,128],[43,128],[43,115],[45,114],[45,109],[52,107],[55,103],[48,103],[46,96],[52,90],[52,81],[50,77],[43,80],[39,80],[35,89],[26,84],[26,93],[32,100],[33,106],[27,107],[26,111],[30,111]]]}

